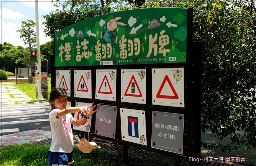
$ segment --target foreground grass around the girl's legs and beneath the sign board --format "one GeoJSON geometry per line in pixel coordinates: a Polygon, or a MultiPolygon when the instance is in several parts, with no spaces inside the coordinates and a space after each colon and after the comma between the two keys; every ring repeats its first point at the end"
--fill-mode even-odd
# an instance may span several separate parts
{"type": "MultiPolygon", "coordinates": [[[[18,164],[20,166],[25,165],[47,165],[48,152],[50,145],[34,145],[34,144],[20,144],[15,146],[3,146],[2,147],[2,164],[4,166],[11,166],[18,164]]],[[[121,158],[117,151],[111,151],[108,149],[95,149],[91,153],[82,153],[77,144],[73,150],[74,165],[90,165],[90,166],[118,166],[122,165],[121,158]]],[[[186,163],[180,163],[184,165],[186,163]]],[[[171,160],[159,158],[155,156],[136,155],[129,154],[129,159],[126,164],[123,165],[143,165],[143,166],[172,166],[174,163],[171,160]]],[[[188,165],[188,164],[186,164],[188,165]]]]}

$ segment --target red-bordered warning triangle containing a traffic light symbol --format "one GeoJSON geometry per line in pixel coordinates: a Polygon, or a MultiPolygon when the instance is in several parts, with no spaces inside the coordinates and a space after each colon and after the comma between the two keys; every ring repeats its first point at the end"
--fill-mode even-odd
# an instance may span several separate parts
{"type": "Polygon", "coordinates": [[[132,78],[128,84],[128,87],[124,93],[124,96],[131,96],[131,97],[142,97],[142,93],[140,91],[140,87],[138,86],[138,83],[134,77],[134,75],[132,75],[132,78]],[[129,92],[128,92],[129,91],[129,92]],[[138,91],[139,94],[135,94],[135,91],[138,91]]]}

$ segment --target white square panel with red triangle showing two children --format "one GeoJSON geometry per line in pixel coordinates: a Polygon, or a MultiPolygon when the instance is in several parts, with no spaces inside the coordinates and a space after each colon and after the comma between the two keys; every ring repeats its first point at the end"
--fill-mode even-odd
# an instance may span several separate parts
{"type": "Polygon", "coordinates": [[[92,71],[74,70],[75,97],[92,99],[92,71]]]}

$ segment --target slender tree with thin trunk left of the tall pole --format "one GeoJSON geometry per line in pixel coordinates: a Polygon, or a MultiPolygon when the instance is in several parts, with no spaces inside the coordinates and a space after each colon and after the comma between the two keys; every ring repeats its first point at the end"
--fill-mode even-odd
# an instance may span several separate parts
{"type": "MultiPolygon", "coordinates": [[[[36,26],[36,23],[33,20],[27,20],[21,22],[21,29],[17,30],[17,32],[20,32],[20,38],[23,40],[25,44],[29,45],[29,50],[32,50],[32,47],[36,44],[36,33],[34,31],[34,27],[36,26]]],[[[28,82],[33,82],[32,79],[32,60],[31,56],[29,58],[29,68],[31,68],[31,76],[28,78],[28,82]]]]}

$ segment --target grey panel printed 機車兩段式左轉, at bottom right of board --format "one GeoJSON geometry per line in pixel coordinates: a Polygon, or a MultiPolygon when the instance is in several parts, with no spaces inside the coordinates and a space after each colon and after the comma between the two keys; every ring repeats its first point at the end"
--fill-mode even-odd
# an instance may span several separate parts
{"type": "Polygon", "coordinates": [[[151,147],[183,154],[184,114],[152,111],[151,147]]]}

